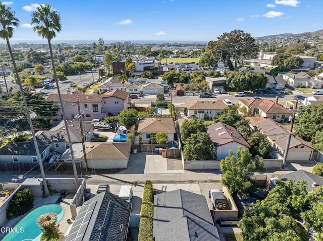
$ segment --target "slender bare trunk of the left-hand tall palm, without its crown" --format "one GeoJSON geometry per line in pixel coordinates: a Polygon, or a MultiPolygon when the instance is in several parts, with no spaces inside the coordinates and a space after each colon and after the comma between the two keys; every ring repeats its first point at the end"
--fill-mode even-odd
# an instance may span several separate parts
{"type": "Polygon", "coordinates": [[[40,156],[40,153],[39,153],[39,148],[38,148],[38,143],[37,143],[37,139],[36,139],[34,127],[33,127],[33,124],[32,124],[32,121],[31,121],[31,117],[30,117],[30,113],[29,113],[29,110],[28,110],[25,93],[24,93],[24,91],[22,89],[22,84],[21,84],[21,80],[20,80],[19,73],[18,73],[16,61],[15,61],[14,54],[12,52],[12,49],[11,49],[11,46],[10,46],[10,42],[9,42],[9,38],[8,37],[6,38],[6,41],[7,41],[8,49],[9,49],[10,56],[11,56],[11,59],[12,59],[12,63],[14,65],[14,69],[15,69],[17,81],[18,81],[18,84],[19,84],[19,88],[20,88],[22,100],[23,100],[24,105],[25,105],[25,108],[26,108],[27,119],[28,119],[28,123],[29,123],[29,126],[30,126],[30,130],[31,130],[31,134],[32,134],[32,139],[34,141],[34,145],[35,145],[35,149],[36,149],[36,154],[37,154],[37,160],[38,160],[38,164],[39,164],[39,169],[40,169],[40,173],[41,173],[41,177],[42,177],[42,182],[43,182],[43,185],[44,185],[44,195],[45,195],[45,197],[48,197],[49,196],[49,190],[48,190],[48,186],[47,186],[47,182],[46,182],[46,178],[45,178],[44,167],[42,166],[42,160],[41,160],[41,156],[40,156]]]}

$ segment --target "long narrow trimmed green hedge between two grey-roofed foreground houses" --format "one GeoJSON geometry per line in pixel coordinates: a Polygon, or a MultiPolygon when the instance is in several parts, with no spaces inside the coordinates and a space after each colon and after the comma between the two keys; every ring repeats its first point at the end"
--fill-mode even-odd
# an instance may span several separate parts
{"type": "Polygon", "coordinates": [[[152,182],[147,180],[143,189],[140,211],[139,241],[153,241],[153,190],[152,182]]]}

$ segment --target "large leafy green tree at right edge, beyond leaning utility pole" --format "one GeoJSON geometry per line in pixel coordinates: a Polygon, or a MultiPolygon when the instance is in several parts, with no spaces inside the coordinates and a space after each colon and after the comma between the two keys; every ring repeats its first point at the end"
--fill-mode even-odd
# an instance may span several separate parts
{"type": "MultiPolygon", "coordinates": [[[[316,133],[323,131],[323,104],[307,105],[299,108],[295,118],[295,133],[306,141],[312,141],[316,133]]],[[[314,140],[315,145],[320,146],[318,140],[314,140]]]]}

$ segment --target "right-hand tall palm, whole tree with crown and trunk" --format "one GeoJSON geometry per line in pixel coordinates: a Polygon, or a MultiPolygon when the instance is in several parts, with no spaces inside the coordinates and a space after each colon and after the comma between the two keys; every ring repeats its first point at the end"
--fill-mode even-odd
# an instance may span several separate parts
{"type": "Polygon", "coordinates": [[[48,41],[50,59],[51,59],[51,64],[52,64],[52,71],[54,73],[54,78],[55,78],[55,82],[56,82],[56,86],[57,86],[57,92],[59,95],[59,100],[60,100],[62,114],[63,114],[63,120],[64,120],[64,124],[66,127],[67,137],[69,140],[71,156],[72,156],[72,166],[73,166],[74,178],[76,181],[75,185],[76,185],[76,189],[77,189],[78,188],[78,177],[77,177],[77,170],[76,170],[73,147],[72,147],[72,140],[71,140],[70,131],[68,128],[68,123],[67,123],[66,116],[65,116],[61,91],[60,91],[59,82],[58,82],[57,73],[56,73],[56,67],[55,67],[54,58],[53,58],[53,54],[52,54],[52,47],[51,47],[51,43],[50,43],[50,41],[54,37],[56,37],[56,32],[61,31],[61,17],[57,11],[51,9],[49,4],[40,5],[32,13],[31,24],[34,25],[33,30],[36,31],[39,36],[42,36],[42,38],[46,38],[48,41]]]}

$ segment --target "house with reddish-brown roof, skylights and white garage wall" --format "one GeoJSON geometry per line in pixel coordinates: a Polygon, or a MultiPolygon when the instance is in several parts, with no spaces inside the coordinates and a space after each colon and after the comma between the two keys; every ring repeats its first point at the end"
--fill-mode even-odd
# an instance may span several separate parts
{"type": "Polygon", "coordinates": [[[214,152],[217,155],[217,160],[226,158],[229,155],[229,150],[232,150],[236,155],[239,146],[242,149],[250,148],[248,142],[230,125],[217,122],[207,126],[205,129],[214,142],[214,152]]]}

